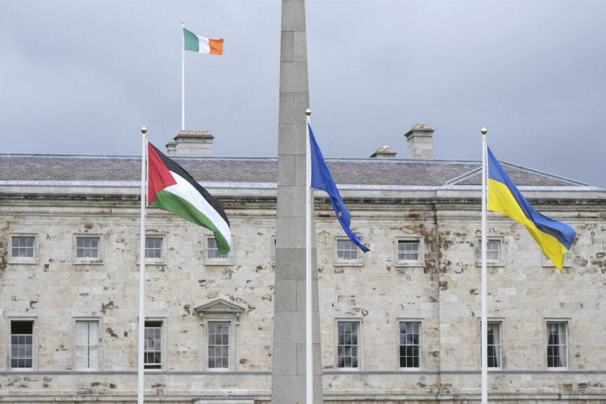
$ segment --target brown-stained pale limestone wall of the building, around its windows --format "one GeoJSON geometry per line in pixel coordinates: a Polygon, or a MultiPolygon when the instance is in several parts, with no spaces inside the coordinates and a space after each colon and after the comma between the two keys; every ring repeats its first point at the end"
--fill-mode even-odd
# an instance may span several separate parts
{"type": "MultiPolygon", "coordinates": [[[[167,260],[147,266],[146,316],[165,323],[165,360],[147,372],[157,400],[201,395],[255,396],[271,391],[275,200],[222,202],[231,221],[235,260],[204,265],[210,232],[150,208],[148,233],[165,235],[167,260]],[[194,308],[217,298],[245,311],[236,326],[230,372],[204,366],[204,332],[194,308]],[[212,393],[212,394],[211,394],[212,393]]],[[[419,402],[479,398],[479,205],[439,199],[351,201],[353,229],[371,251],[359,265],[336,265],[344,237],[325,200],[316,203],[319,303],[325,402],[419,402]],[[398,266],[397,237],[419,237],[424,264],[398,266]],[[336,368],[336,322],[361,322],[361,367],[336,368]],[[400,369],[398,321],[422,322],[421,367],[400,369]]],[[[561,274],[544,266],[524,227],[489,215],[489,236],[502,240],[502,262],[488,267],[488,315],[502,321],[504,365],[489,374],[502,400],[606,400],[606,205],[544,204],[578,237],[561,274]],[[546,322],[568,322],[569,364],[546,363],[546,322]],[[557,397],[556,397],[557,398],[557,397]]],[[[133,400],[139,211],[136,199],[0,199],[0,399],[133,400]],[[7,237],[38,234],[36,264],[8,264],[7,237]],[[73,264],[73,234],[99,234],[102,264],[73,264]],[[35,319],[35,366],[9,368],[10,320],[35,319]],[[98,318],[98,371],[74,371],[76,317],[98,318]]],[[[150,396],[150,397],[151,397],[150,396]]],[[[497,397],[497,396],[494,396],[497,397]]]]}

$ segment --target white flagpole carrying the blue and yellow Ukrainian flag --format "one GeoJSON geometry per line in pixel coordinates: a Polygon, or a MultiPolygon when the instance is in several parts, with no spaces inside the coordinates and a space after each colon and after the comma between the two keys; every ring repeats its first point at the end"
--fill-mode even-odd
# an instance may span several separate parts
{"type": "Polygon", "coordinates": [[[488,191],[488,161],[486,152],[486,128],[482,130],[482,404],[488,404],[488,323],[486,309],[486,210],[488,191]]]}

